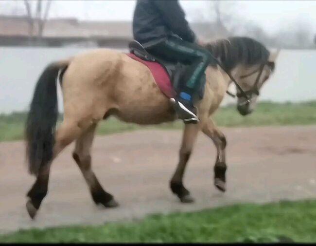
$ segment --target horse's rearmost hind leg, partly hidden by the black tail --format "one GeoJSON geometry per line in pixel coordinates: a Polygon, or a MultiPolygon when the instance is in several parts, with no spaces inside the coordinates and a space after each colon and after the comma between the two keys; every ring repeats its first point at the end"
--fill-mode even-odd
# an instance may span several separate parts
{"type": "MultiPolygon", "coordinates": [[[[76,139],[88,126],[88,123],[79,127],[76,121],[64,120],[56,134],[56,142],[54,145],[54,158],[74,139],[76,139]]],[[[36,181],[30,191],[27,193],[29,197],[26,203],[27,211],[32,219],[34,219],[48,190],[48,180],[50,175],[51,163],[41,167],[36,176],[36,181]]]]}

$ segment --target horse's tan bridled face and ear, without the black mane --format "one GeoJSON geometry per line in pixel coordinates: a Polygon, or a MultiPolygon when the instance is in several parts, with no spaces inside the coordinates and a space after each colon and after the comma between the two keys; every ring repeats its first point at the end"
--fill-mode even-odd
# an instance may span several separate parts
{"type": "Polygon", "coordinates": [[[240,114],[251,114],[255,109],[260,89],[274,73],[279,52],[280,50],[270,53],[268,59],[261,64],[243,66],[243,69],[241,69],[237,81],[250,99],[250,103],[246,103],[246,98],[237,89],[237,110],[240,114]]]}

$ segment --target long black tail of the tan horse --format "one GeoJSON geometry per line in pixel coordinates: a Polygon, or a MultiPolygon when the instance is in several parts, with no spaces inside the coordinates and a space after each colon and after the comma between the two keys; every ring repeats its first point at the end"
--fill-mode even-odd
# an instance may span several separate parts
{"type": "Polygon", "coordinates": [[[56,77],[60,64],[47,66],[39,77],[26,120],[26,156],[29,171],[38,174],[53,159],[55,129],[58,117],[56,77]]]}

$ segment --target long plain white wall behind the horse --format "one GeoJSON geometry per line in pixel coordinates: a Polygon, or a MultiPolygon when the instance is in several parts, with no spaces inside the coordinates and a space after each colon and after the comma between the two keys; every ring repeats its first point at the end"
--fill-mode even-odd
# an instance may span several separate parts
{"type": "MultiPolygon", "coordinates": [[[[83,48],[0,48],[0,113],[27,110],[35,82],[53,60],[83,48]]],[[[230,89],[234,91],[234,88],[230,89]]],[[[316,50],[281,50],[275,75],[262,89],[260,100],[297,102],[316,100],[316,50]]],[[[234,99],[225,98],[224,103],[234,99]]],[[[59,109],[62,100],[59,89],[59,109]]]]}

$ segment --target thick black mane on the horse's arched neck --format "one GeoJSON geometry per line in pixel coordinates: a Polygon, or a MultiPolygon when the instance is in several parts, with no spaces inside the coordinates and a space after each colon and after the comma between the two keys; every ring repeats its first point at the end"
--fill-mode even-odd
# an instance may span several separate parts
{"type": "Polygon", "coordinates": [[[214,57],[220,59],[228,71],[238,64],[248,66],[263,64],[268,61],[270,55],[262,43],[246,37],[218,39],[207,44],[206,48],[214,57]]]}

